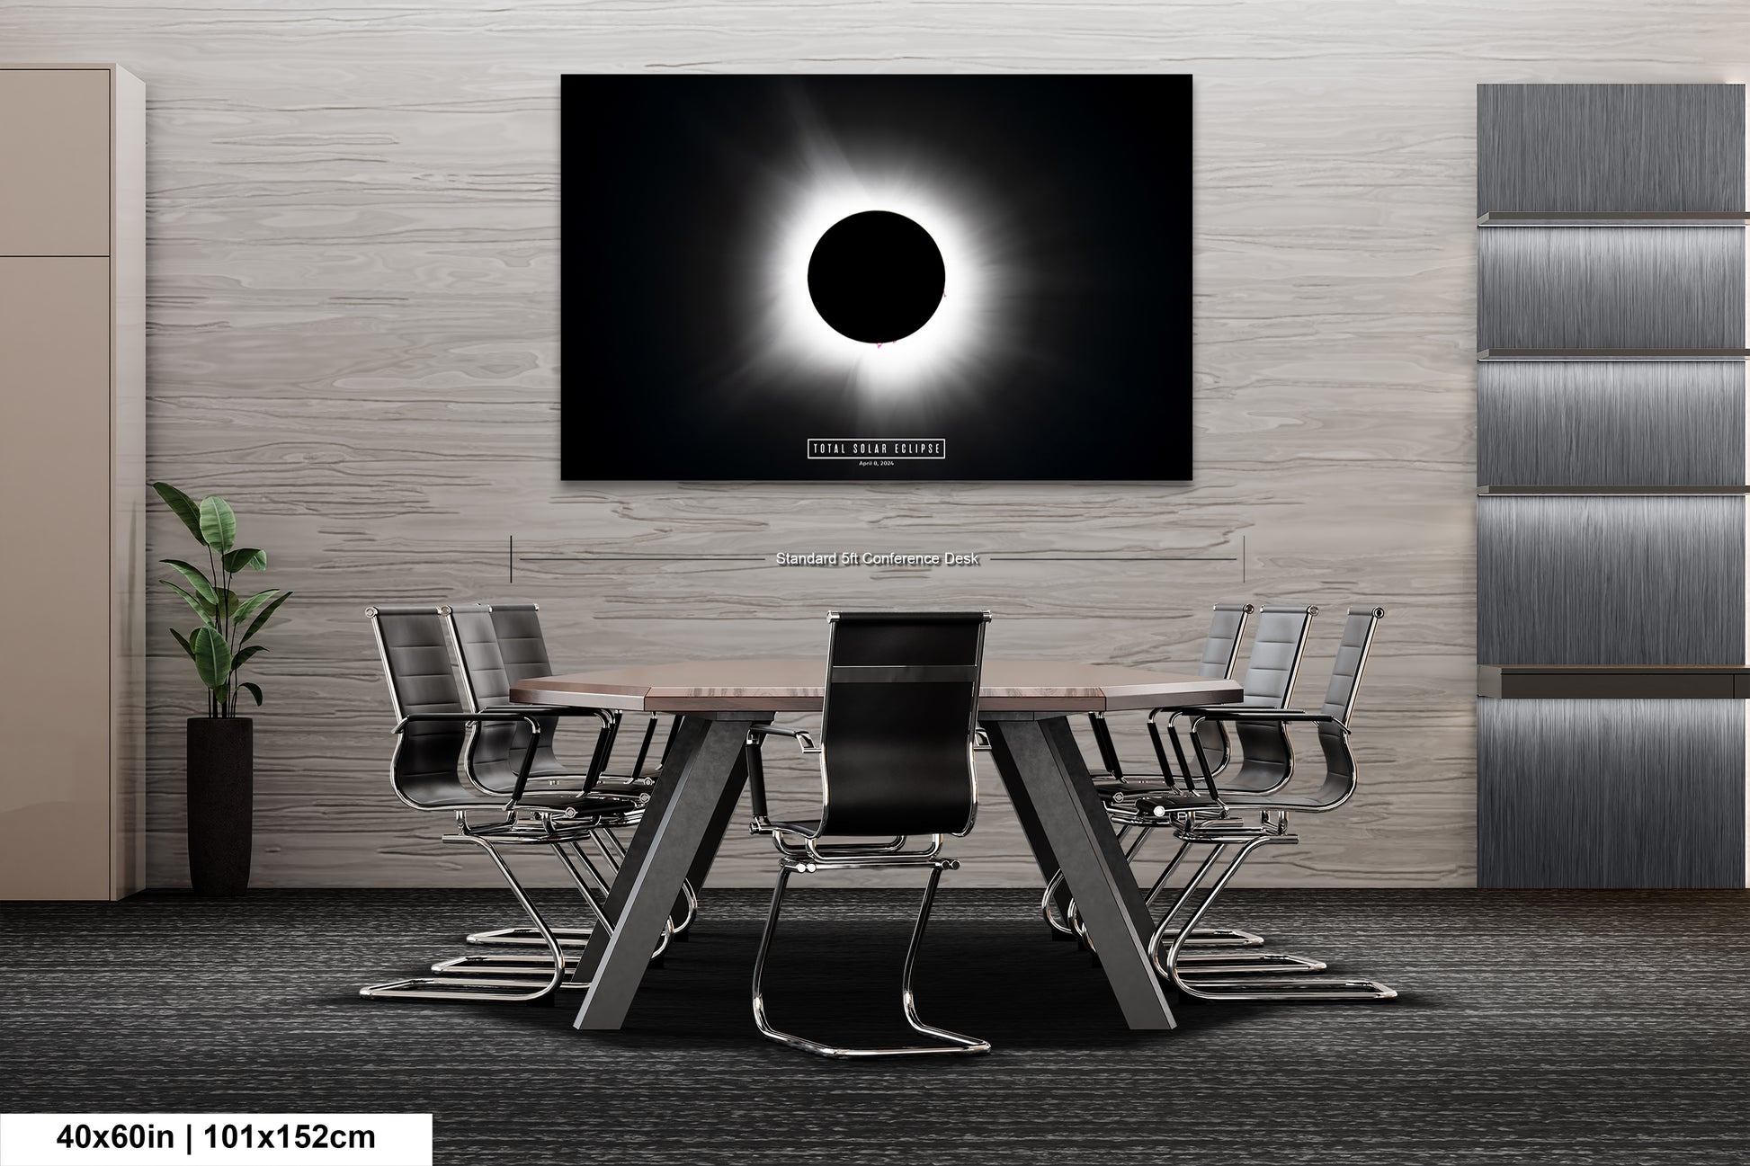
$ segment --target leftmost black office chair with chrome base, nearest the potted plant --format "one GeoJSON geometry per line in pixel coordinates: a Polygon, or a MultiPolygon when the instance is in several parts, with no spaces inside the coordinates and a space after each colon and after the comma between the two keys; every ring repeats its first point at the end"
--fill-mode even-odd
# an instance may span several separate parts
{"type": "MultiPolygon", "coordinates": [[[[523,749],[509,763],[511,788],[506,791],[483,790],[467,781],[464,751],[469,746],[469,730],[522,723],[528,730],[528,739],[539,744],[546,732],[542,721],[514,709],[464,707],[450,662],[444,618],[438,608],[368,608],[366,615],[371,620],[396,713],[397,739],[390,760],[390,788],[401,802],[416,811],[455,814],[457,830],[443,840],[472,844],[486,853],[534,924],[536,935],[548,947],[548,956],[514,958],[511,966],[495,966],[490,972],[453,966],[452,961],[434,966],[432,977],[373,984],[362,987],[360,994],[539,1001],[551,998],[560,987],[572,987],[564,984],[567,959],[558,937],[528,900],[500,849],[546,847],[564,863],[597,923],[609,926],[592,888],[567,851],[581,854],[578,844],[593,830],[634,823],[637,804],[625,797],[595,793],[590,776],[576,790],[530,790],[528,769],[536,749],[523,749]]],[[[592,709],[567,714],[595,716],[604,727],[607,723],[606,714],[592,709]]]]}

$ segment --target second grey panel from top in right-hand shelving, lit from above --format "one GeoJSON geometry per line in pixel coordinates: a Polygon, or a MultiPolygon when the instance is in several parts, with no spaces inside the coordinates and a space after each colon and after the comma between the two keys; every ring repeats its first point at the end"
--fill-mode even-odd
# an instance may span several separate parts
{"type": "Polygon", "coordinates": [[[1479,348],[1743,348],[1734,228],[1477,231],[1479,348]]]}

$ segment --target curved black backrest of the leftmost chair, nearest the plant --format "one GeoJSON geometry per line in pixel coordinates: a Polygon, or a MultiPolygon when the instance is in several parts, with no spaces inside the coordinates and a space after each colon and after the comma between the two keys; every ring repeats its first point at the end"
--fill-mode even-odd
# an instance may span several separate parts
{"type": "MultiPolygon", "coordinates": [[[[467,713],[450,664],[443,613],[434,608],[366,608],[388,681],[396,720],[413,713],[467,713]]],[[[396,737],[390,781],[418,809],[453,805],[472,793],[458,770],[467,728],[460,721],[415,721],[396,737]]]]}

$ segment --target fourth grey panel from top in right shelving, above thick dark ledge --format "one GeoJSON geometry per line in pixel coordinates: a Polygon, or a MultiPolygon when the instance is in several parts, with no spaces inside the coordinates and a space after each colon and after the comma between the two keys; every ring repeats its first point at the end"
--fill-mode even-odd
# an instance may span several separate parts
{"type": "Polygon", "coordinates": [[[1743,664],[1743,497],[1479,497],[1479,664],[1743,664]]]}

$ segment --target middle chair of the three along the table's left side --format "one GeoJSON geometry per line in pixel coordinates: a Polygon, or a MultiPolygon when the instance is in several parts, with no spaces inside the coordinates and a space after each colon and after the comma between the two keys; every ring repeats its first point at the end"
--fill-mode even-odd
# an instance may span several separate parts
{"type": "MultiPolygon", "coordinates": [[[[532,790],[574,790],[586,776],[593,781],[595,793],[620,795],[630,798],[648,797],[653,779],[642,774],[644,758],[649,751],[651,734],[656,718],[649,718],[649,728],[639,749],[632,774],[616,776],[607,772],[607,763],[614,749],[621,714],[607,713],[609,723],[600,727],[590,744],[590,763],[579,770],[565,765],[553,748],[555,728],[564,711],[546,706],[522,706],[511,702],[511,685],[532,676],[551,676],[553,665],[548,660],[546,637],[541,632],[541,616],[536,604],[452,604],[439,609],[450,627],[450,639],[455,644],[457,658],[462,664],[462,692],[472,711],[509,709],[528,713],[546,730],[536,742],[534,762],[528,779],[532,790]]],[[[469,779],[492,793],[502,793],[509,779],[511,758],[520,758],[528,744],[528,727],[516,725],[480,725],[469,735],[464,753],[469,779]]],[[[620,870],[625,858],[625,846],[612,830],[602,828],[590,833],[592,842],[602,854],[611,872],[620,870]]],[[[586,870],[595,872],[586,854],[578,854],[586,863],[586,870]]],[[[604,891],[606,891],[604,882],[604,891]]],[[[698,898],[691,886],[686,886],[681,903],[674,914],[672,935],[682,935],[696,916],[698,898]]],[[[565,947],[583,947],[590,942],[588,926],[553,928],[565,947]]],[[[494,928],[474,931],[469,944],[483,945],[537,945],[542,938],[532,928],[494,928]]],[[[667,944],[667,940],[665,940],[667,944]]],[[[452,961],[488,966],[494,959],[452,961]]]]}

